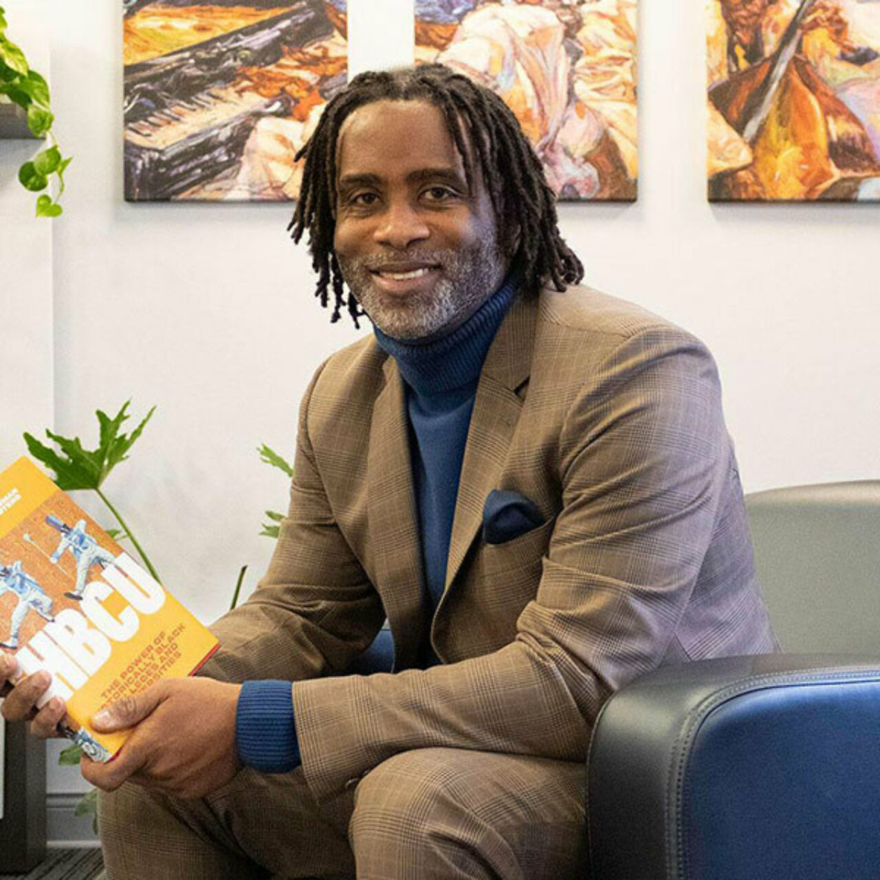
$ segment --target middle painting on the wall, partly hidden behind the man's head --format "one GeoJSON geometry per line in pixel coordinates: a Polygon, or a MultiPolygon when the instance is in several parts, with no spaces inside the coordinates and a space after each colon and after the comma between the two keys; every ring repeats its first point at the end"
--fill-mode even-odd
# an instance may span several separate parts
{"type": "Polygon", "coordinates": [[[637,0],[414,0],[415,62],[487,85],[561,200],[632,202],[637,0]]]}

